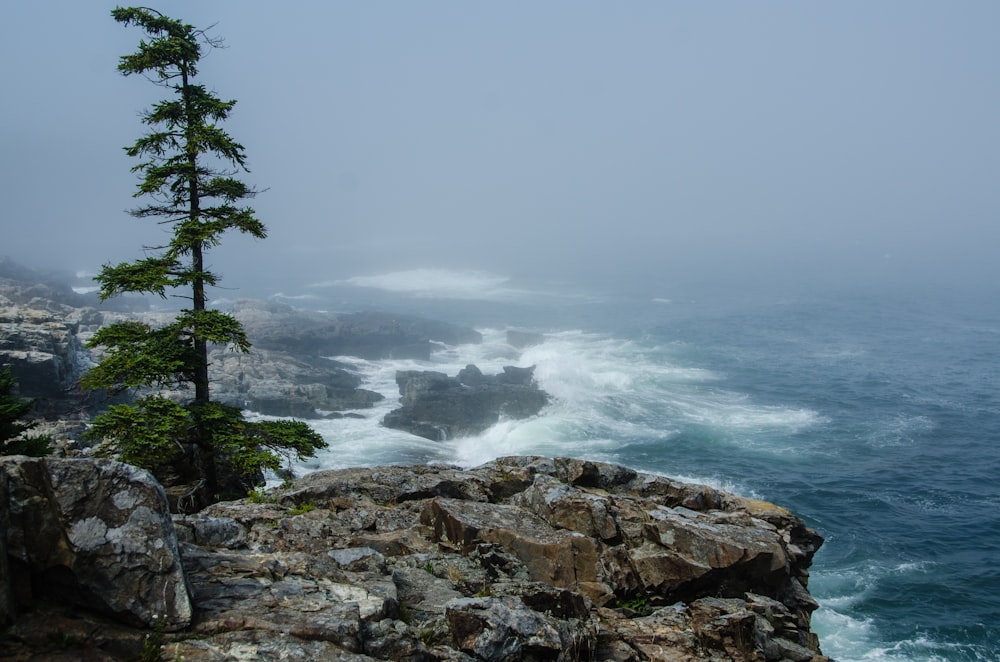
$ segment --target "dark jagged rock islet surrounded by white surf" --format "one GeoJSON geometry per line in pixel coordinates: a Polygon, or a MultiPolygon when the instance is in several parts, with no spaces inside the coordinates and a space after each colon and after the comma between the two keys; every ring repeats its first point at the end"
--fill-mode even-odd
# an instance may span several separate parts
{"type": "Polygon", "coordinates": [[[456,377],[430,370],[396,373],[400,407],[382,424],[435,441],[475,435],[502,418],[528,418],[548,404],[535,383],[534,368],[506,366],[498,375],[484,375],[468,365],[456,377]]]}

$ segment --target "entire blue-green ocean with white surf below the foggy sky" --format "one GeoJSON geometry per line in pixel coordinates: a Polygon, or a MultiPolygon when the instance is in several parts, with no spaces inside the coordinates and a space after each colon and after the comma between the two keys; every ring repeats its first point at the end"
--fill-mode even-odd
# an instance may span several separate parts
{"type": "MultiPolygon", "coordinates": [[[[387,398],[364,419],[314,423],[330,448],[300,472],[542,454],[708,483],[826,538],[810,590],[827,655],[1000,660],[996,291],[462,296],[411,288],[391,305],[476,326],[481,345],[439,344],[429,362],[337,357],[387,398]],[[508,328],[545,341],[515,350],[508,328]],[[397,406],[396,370],[468,363],[534,365],[553,402],[445,442],[378,424],[397,406]]],[[[313,303],[359,305],[347,297],[313,303]]]]}

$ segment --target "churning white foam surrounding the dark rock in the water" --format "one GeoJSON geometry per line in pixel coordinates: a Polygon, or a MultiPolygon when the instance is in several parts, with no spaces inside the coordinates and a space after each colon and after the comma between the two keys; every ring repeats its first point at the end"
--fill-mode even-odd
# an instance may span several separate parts
{"type": "MultiPolygon", "coordinates": [[[[661,445],[685,427],[696,425],[714,430],[719,439],[746,444],[748,435],[770,439],[770,433],[795,431],[818,419],[814,412],[756,405],[740,394],[712,388],[709,385],[719,376],[673,359],[676,348],[563,331],[545,334],[544,342],[519,352],[507,343],[504,329],[482,329],[481,333],[480,344],[435,343],[429,361],[330,357],[350,366],[362,378],[364,388],[385,399],[372,409],[353,412],[362,418],[313,422],[330,447],[300,470],[398,462],[474,466],[512,454],[625,462],[620,452],[623,439],[661,445]],[[501,421],[476,437],[447,442],[381,426],[385,414],[399,406],[398,370],[455,375],[469,363],[486,374],[502,372],[507,365],[534,366],[535,378],[552,397],[551,403],[534,418],[501,421]]],[[[783,452],[771,441],[759,443],[783,452]]]]}

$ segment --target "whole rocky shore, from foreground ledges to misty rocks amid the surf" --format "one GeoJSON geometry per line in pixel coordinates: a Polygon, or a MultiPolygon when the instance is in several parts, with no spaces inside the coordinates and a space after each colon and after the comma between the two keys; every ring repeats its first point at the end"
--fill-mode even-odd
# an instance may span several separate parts
{"type": "MultiPolygon", "coordinates": [[[[169,314],[97,309],[15,266],[0,259],[0,363],[71,457],[0,458],[0,659],[827,659],[810,630],[816,532],[773,504],[625,467],[322,471],[172,515],[177,486],[72,457],[106,404],[75,387],[93,362],[86,339],[169,314]]],[[[481,340],[385,313],[260,301],[233,313],[255,346],[213,351],[215,397],[275,416],[364,416],[383,398],[330,356],[420,359],[433,342],[481,340]]],[[[382,424],[430,439],[532,416],[549,397],[531,367],[396,381],[400,407],[382,424]]]]}

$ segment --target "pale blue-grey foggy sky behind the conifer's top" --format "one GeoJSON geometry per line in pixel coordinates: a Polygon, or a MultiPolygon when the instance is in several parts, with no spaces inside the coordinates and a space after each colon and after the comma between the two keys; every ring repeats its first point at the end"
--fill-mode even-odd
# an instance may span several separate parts
{"type": "MultiPolygon", "coordinates": [[[[409,269],[594,282],[996,281],[1000,4],[147,2],[227,48],[200,82],[270,237],[223,283],[409,269]]],[[[112,3],[6,3],[0,254],[156,244],[122,147],[163,97],[112,3]]]]}

